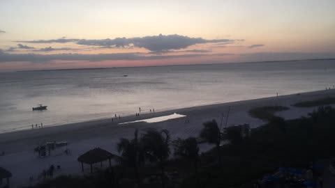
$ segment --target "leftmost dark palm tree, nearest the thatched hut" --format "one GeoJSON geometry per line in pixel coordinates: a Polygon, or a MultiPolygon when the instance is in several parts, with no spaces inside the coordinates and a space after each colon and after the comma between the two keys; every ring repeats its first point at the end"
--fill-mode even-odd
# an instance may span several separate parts
{"type": "Polygon", "coordinates": [[[120,139],[117,144],[117,150],[121,153],[121,163],[134,169],[137,185],[140,187],[141,181],[138,173],[138,166],[144,162],[144,152],[140,141],[138,141],[137,135],[138,130],[135,130],[134,139],[120,139]]]}

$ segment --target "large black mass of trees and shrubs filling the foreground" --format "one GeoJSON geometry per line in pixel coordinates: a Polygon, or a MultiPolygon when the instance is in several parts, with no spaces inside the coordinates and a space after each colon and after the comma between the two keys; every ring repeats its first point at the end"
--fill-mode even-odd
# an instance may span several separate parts
{"type": "Polygon", "coordinates": [[[172,146],[178,158],[169,160],[172,146],[166,130],[149,130],[140,137],[135,132],[134,139],[121,139],[118,166],[85,177],[62,176],[36,187],[252,187],[279,167],[306,168],[334,157],[334,134],[332,107],[319,107],[296,120],[272,117],[248,136],[238,136],[237,128],[223,136],[216,121],[210,121],[200,134],[204,140],[216,146],[223,137],[234,141],[199,155],[198,139],[177,139],[172,146]]]}

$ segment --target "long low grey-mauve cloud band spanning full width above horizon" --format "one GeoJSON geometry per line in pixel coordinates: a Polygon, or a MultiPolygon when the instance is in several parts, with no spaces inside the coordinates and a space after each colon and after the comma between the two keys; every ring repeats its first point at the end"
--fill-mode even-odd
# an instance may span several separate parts
{"type": "MultiPolygon", "coordinates": [[[[160,60],[170,58],[198,58],[202,56],[232,56],[229,62],[251,62],[251,61],[287,61],[308,58],[335,58],[335,53],[300,53],[300,52],[260,52],[250,54],[207,54],[191,53],[177,55],[151,55],[148,53],[119,53],[119,54],[9,54],[0,49],[0,63],[8,62],[32,62],[52,63],[52,61],[143,61],[160,60]]],[[[218,62],[223,62],[218,60],[218,62]]]]}

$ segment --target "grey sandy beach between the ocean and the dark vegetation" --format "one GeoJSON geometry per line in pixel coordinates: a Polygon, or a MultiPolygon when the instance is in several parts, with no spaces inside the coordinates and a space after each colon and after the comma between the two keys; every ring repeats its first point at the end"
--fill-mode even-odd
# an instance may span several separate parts
{"type": "MultiPolygon", "coordinates": [[[[45,125],[41,129],[3,133],[0,134],[0,151],[4,151],[5,155],[0,156],[0,166],[8,169],[13,174],[13,177],[10,178],[10,183],[13,187],[38,182],[38,175],[40,175],[43,169],[47,169],[52,164],[61,166],[61,170],[57,170],[55,175],[81,175],[83,173],[80,163],[77,162],[79,155],[96,147],[117,154],[116,146],[119,139],[122,137],[133,137],[135,129],[145,130],[148,127],[154,127],[158,130],[167,129],[170,131],[172,139],[198,136],[202,129],[202,123],[212,119],[216,119],[220,123],[221,116],[225,117],[227,115],[229,107],[228,126],[249,123],[253,128],[263,125],[265,122],[249,116],[249,109],[269,105],[281,105],[290,109],[276,113],[277,116],[285,119],[299,118],[300,116],[306,116],[307,113],[317,107],[298,108],[292,107],[292,104],[331,96],[335,96],[335,89],[169,111],[155,109],[154,113],[143,113],[140,116],[135,116],[134,114],[133,116],[121,117],[120,120],[115,119],[114,114],[111,114],[110,118],[103,120],[92,120],[54,127],[47,127],[45,125]],[[185,123],[185,118],[175,118],[158,123],[126,123],[135,120],[168,116],[172,113],[186,116],[189,123],[185,123]],[[113,121],[112,118],[114,118],[113,121]],[[70,153],[65,155],[65,148],[63,147],[52,151],[51,156],[41,159],[34,152],[34,148],[38,146],[38,143],[45,141],[67,141],[67,148],[70,150],[70,153]],[[33,181],[29,181],[29,177],[31,176],[34,178],[33,181]]],[[[202,150],[207,150],[208,148],[209,146],[202,146],[202,150]]],[[[105,166],[107,166],[107,162],[105,166]]],[[[100,164],[96,164],[96,168],[98,167],[100,167],[100,164]]],[[[89,173],[89,166],[85,166],[84,173],[89,173]]]]}

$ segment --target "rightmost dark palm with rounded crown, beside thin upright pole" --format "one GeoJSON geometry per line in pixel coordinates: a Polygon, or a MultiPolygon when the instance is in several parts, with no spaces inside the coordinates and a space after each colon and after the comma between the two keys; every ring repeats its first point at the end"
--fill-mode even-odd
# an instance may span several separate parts
{"type": "Polygon", "coordinates": [[[221,133],[218,128],[218,123],[216,120],[211,120],[203,123],[204,128],[200,132],[200,137],[207,141],[208,143],[214,143],[216,145],[216,151],[218,153],[218,165],[221,167],[221,152],[220,152],[220,142],[221,142],[221,133]]]}

